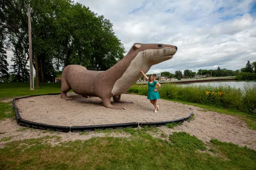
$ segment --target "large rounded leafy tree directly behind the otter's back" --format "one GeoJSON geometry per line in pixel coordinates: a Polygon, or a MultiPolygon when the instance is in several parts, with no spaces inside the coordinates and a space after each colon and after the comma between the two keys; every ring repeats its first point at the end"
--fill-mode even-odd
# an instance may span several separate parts
{"type": "Polygon", "coordinates": [[[88,70],[107,70],[124,57],[123,44],[114,35],[113,25],[88,7],[76,3],[57,17],[64,67],[79,64],[88,70]]]}

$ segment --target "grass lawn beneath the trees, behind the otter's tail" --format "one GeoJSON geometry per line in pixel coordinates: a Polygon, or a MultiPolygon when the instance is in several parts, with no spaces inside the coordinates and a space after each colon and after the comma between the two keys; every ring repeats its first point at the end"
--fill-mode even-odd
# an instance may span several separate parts
{"type": "Polygon", "coordinates": [[[39,88],[34,86],[34,90],[30,90],[29,83],[0,83],[0,89],[0,100],[4,100],[18,96],[60,93],[61,83],[45,83],[39,88]]]}

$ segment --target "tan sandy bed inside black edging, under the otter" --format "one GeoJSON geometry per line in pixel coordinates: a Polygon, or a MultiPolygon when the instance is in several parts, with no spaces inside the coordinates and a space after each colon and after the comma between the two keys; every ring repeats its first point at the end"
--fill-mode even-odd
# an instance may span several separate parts
{"type": "Polygon", "coordinates": [[[191,110],[185,104],[158,99],[159,111],[147,96],[123,94],[121,100],[133,103],[111,103],[126,110],[105,108],[98,97],[84,98],[68,93],[74,100],[65,101],[60,95],[31,96],[16,100],[22,119],[57,126],[89,126],[129,122],[158,122],[188,116],[191,110]]]}

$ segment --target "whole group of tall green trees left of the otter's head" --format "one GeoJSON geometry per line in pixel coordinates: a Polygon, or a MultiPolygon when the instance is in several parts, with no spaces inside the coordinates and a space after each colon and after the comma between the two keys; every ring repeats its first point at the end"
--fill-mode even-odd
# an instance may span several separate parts
{"type": "Polygon", "coordinates": [[[113,24],[89,7],[71,0],[2,0],[0,82],[29,82],[28,4],[36,87],[54,82],[69,64],[103,71],[124,57],[113,24]],[[13,52],[10,73],[7,51],[13,52]]]}

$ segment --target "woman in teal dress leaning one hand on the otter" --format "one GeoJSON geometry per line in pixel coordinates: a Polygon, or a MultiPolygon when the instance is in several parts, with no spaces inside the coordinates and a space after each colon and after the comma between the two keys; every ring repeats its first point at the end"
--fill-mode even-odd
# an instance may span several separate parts
{"type": "Polygon", "coordinates": [[[161,85],[154,79],[153,75],[150,75],[149,78],[144,74],[143,70],[140,71],[144,78],[148,80],[148,92],[147,92],[147,99],[150,100],[150,103],[152,103],[155,106],[155,113],[157,110],[159,110],[159,106],[157,105],[157,99],[160,99],[160,95],[158,93],[159,88],[161,85]],[[155,88],[155,85],[158,86],[158,88],[155,88]]]}

